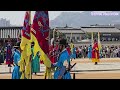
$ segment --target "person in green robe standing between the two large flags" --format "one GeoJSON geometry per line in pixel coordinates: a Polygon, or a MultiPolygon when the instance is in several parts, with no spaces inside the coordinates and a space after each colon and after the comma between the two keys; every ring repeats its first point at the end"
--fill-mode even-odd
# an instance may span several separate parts
{"type": "Polygon", "coordinates": [[[32,50],[32,73],[37,73],[40,72],[40,52],[38,51],[36,56],[34,57],[34,42],[32,42],[31,45],[31,50],[32,50]]]}

